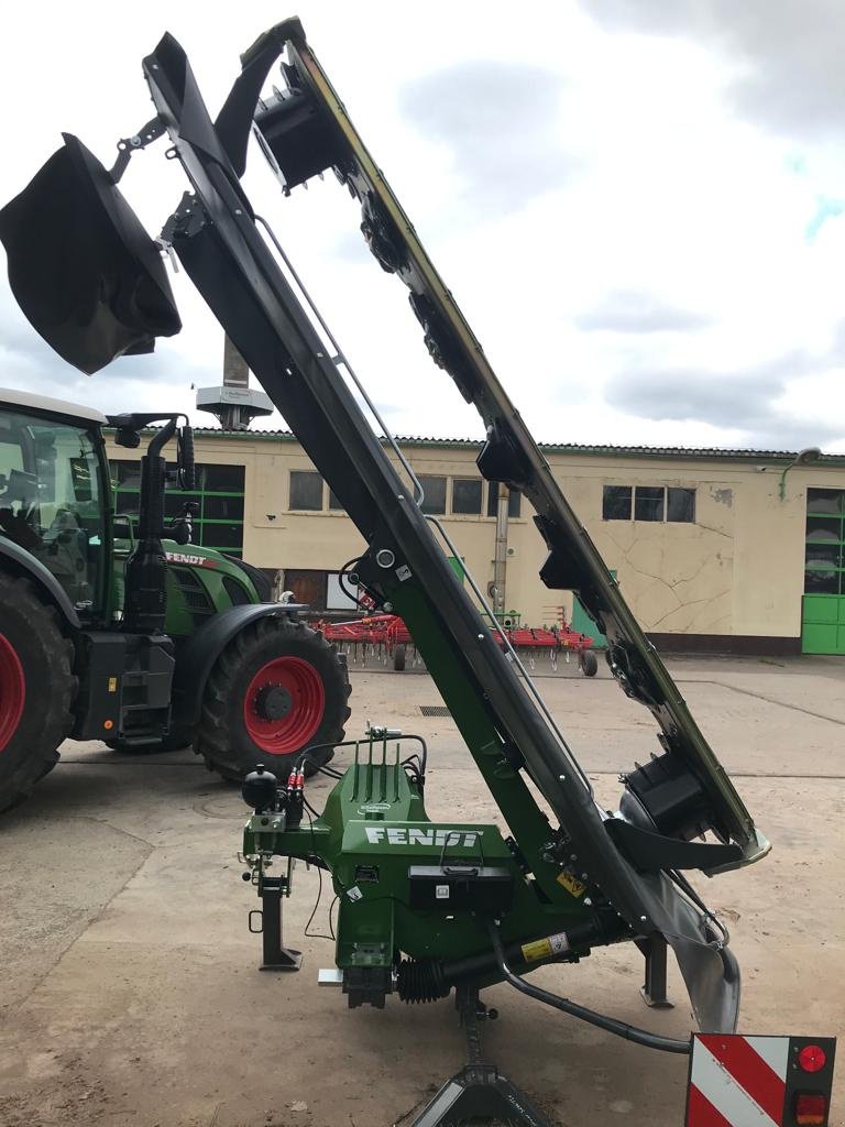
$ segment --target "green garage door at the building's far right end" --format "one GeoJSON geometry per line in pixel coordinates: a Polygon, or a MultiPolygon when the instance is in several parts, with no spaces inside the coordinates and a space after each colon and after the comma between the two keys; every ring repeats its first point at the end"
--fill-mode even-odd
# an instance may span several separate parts
{"type": "Polygon", "coordinates": [[[804,654],[845,654],[845,489],[807,490],[804,654]]]}

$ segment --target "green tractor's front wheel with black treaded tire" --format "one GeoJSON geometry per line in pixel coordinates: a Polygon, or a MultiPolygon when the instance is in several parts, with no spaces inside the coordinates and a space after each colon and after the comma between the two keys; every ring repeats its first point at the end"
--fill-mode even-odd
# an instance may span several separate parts
{"type": "MultiPolygon", "coordinates": [[[[258,692],[276,687],[278,685],[265,684],[258,692]]],[[[214,664],[203,695],[195,751],[212,771],[225,779],[243,779],[259,763],[283,779],[306,747],[337,744],[344,738],[344,725],[349,718],[349,691],[346,659],[338,656],[321,633],[291,619],[259,619],[244,627],[214,664]],[[296,717],[302,710],[297,713],[297,700],[304,699],[308,692],[294,689],[288,693],[290,708],[284,717],[274,721],[263,718],[259,695],[250,692],[259,674],[274,662],[301,669],[305,690],[314,689],[318,681],[322,686],[321,703],[311,698],[312,716],[303,720],[299,729],[296,717]],[[247,716],[254,726],[252,734],[247,716]],[[268,751],[267,746],[256,743],[255,728],[261,724],[277,724],[279,731],[288,733],[290,738],[279,738],[277,744],[284,746],[284,751],[268,751]],[[299,738],[305,731],[304,738],[299,738]],[[295,746],[290,746],[292,742],[295,746]]],[[[268,735],[267,738],[273,737],[268,735]]],[[[333,754],[331,747],[315,753],[313,762],[305,764],[305,774],[314,774],[318,765],[328,763],[333,754]]]]}

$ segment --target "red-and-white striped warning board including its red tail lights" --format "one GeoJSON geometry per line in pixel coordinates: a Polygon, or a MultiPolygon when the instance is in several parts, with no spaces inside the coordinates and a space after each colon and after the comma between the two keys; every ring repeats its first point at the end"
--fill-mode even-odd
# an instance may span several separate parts
{"type": "Polygon", "coordinates": [[[696,1033],[686,1127],[827,1127],[833,1038],[696,1033]]]}

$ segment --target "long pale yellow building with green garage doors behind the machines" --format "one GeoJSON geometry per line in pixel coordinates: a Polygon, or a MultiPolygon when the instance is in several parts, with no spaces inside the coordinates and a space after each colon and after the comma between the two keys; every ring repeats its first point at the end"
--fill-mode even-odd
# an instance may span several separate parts
{"type": "MultiPolygon", "coordinates": [[[[348,614],[337,573],[365,544],[299,442],[260,431],[195,437],[195,540],[284,569],[299,600],[348,614]]],[[[426,511],[443,517],[487,588],[496,487],[475,469],[480,443],[400,445],[422,480],[426,511]]],[[[140,453],[109,442],[119,512],[132,511],[140,453]]],[[[543,453],[659,649],[845,654],[845,455],[795,463],[779,452],[546,445],[543,453]]],[[[175,494],[170,512],[183,500],[175,494]]],[[[540,582],[543,559],[531,506],[513,496],[507,610],[542,625],[562,605],[567,620],[589,632],[571,594],[540,582]]]]}

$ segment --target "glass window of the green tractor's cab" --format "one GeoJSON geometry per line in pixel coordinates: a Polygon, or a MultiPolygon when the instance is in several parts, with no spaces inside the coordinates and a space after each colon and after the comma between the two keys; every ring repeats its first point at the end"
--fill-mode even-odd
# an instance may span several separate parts
{"type": "Polygon", "coordinates": [[[100,609],[104,532],[95,435],[0,411],[0,535],[53,573],[82,619],[100,609]]]}

